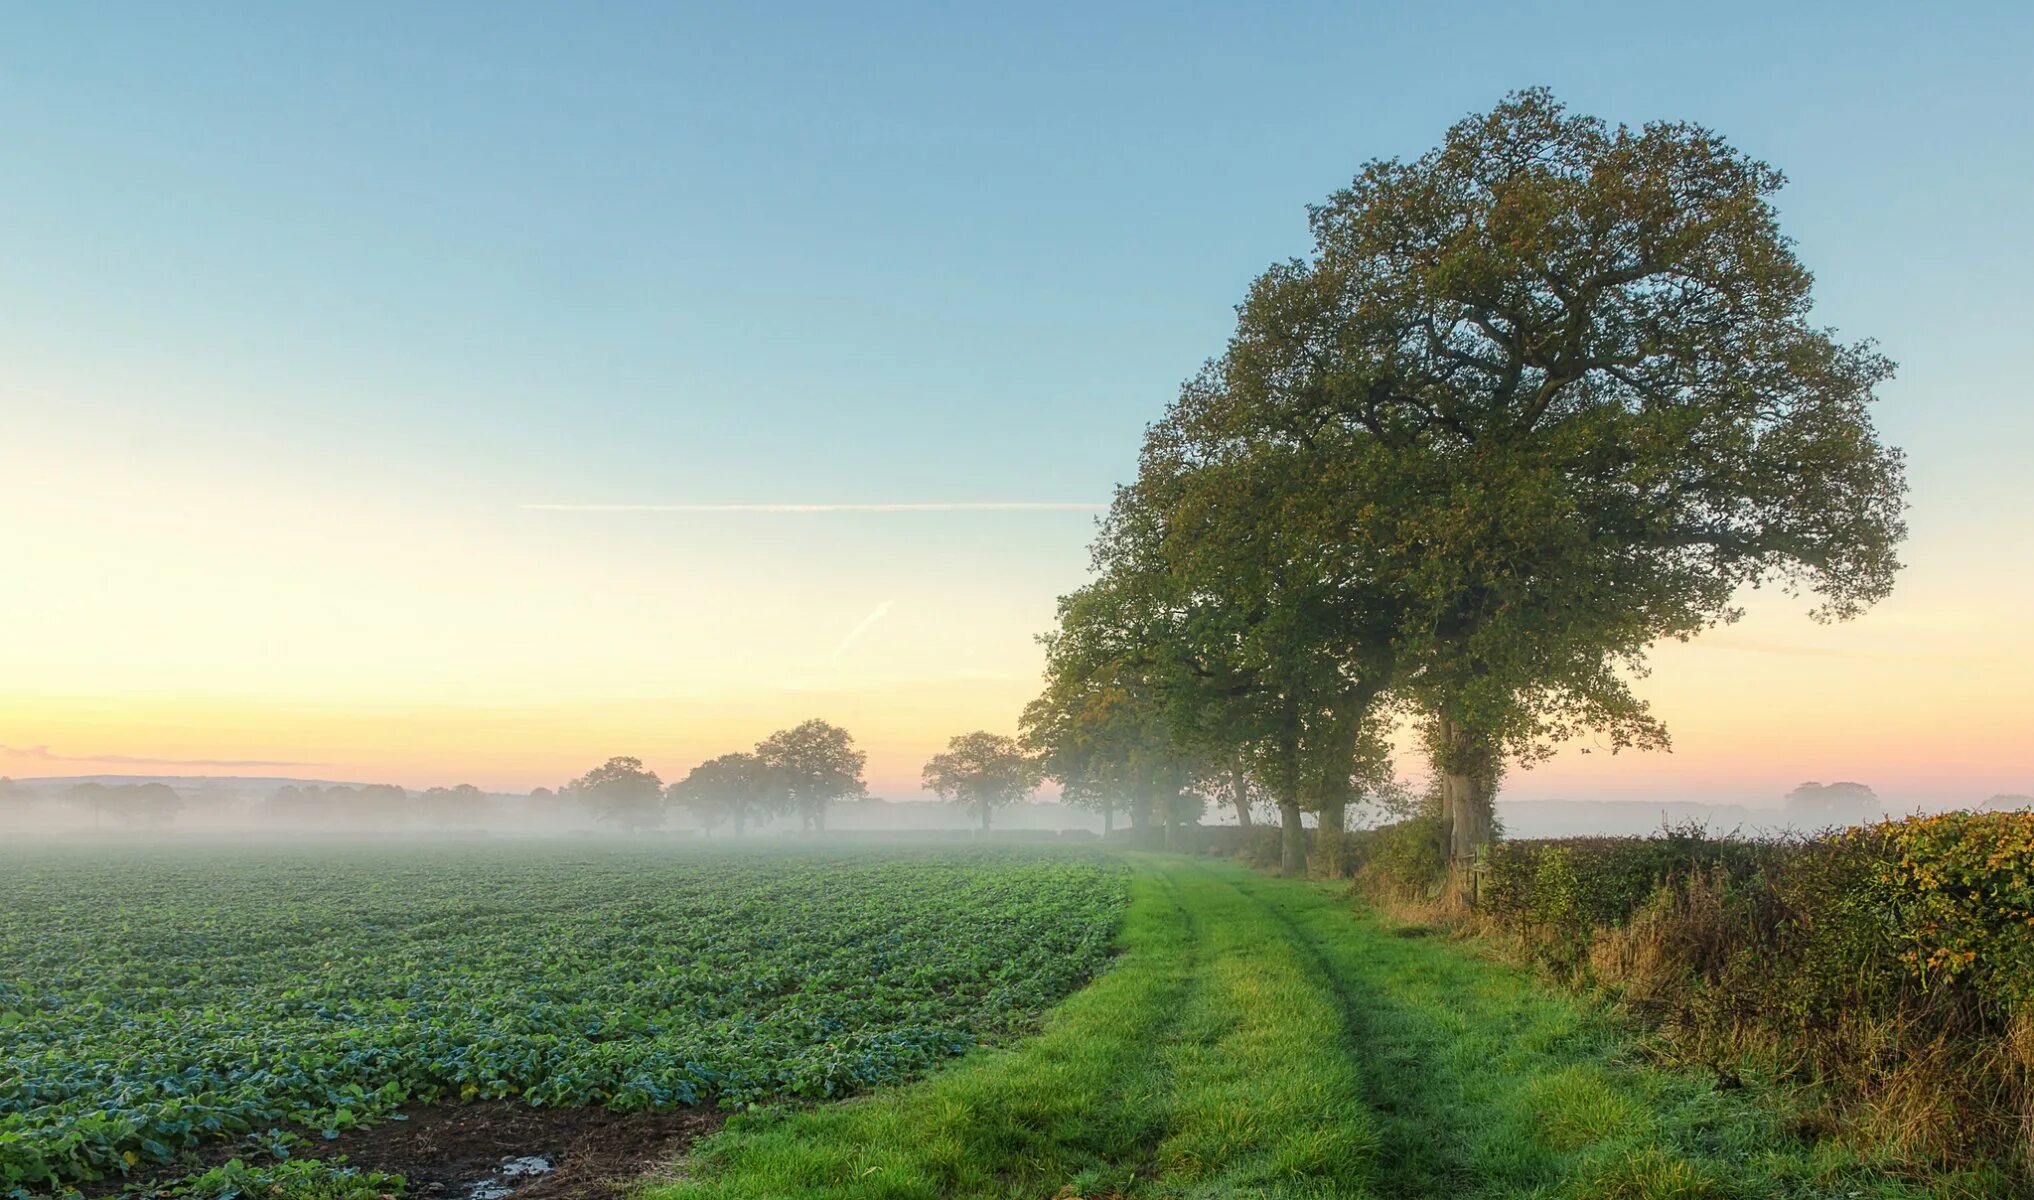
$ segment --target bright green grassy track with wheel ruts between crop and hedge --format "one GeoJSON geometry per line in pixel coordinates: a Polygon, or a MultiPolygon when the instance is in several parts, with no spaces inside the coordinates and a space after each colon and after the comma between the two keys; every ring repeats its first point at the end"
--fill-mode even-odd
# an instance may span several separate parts
{"type": "Polygon", "coordinates": [[[1334,891],[1143,858],[1115,968],[1015,1049],[736,1117],[651,1200],[1920,1198],[1597,1007],[1334,891]]]}

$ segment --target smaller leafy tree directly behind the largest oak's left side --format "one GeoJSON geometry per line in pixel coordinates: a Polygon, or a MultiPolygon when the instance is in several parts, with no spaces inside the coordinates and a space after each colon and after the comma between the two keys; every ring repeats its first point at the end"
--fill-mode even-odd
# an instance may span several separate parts
{"type": "Polygon", "coordinates": [[[1041,700],[1062,706],[1086,675],[1147,714],[1137,803],[1149,795],[1168,842],[1186,824],[1172,797],[1241,767],[1277,805],[1298,875],[1302,812],[1338,832],[1359,753],[1379,740],[1399,612],[1344,547],[1316,464],[1233,443],[1231,403],[1218,380],[1190,382],[1147,431],[1094,545],[1100,578],[1060,600],[1041,700]]]}

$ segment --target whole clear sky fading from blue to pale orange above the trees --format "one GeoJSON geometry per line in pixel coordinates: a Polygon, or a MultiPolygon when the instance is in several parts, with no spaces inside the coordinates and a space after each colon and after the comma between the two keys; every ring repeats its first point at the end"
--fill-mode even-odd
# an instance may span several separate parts
{"type": "Polygon", "coordinates": [[[0,775],[665,777],[1013,732],[1304,209],[1505,92],[1782,167],[1908,569],[1511,797],[2034,791],[2034,8],[6,4],[0,775]]]}

